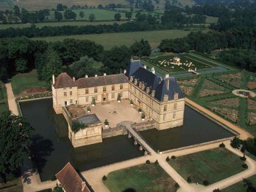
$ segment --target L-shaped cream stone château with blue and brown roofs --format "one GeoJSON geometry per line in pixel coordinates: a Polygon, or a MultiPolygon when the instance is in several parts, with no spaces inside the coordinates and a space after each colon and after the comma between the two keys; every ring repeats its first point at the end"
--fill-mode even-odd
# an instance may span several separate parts
{"type": "MultiPolygon", "coordinates": [[[[163,79],[157,77],[154,68],[147,69],[140,60],[132,60],[122,74],[85,76],[77,80],[66,73],[56,79],[53,76],[52,99],[55,112],[63,113],[68,121],[69,139],[74,147],[102,142],[102,122],[97,114],[87,114],[91,104],[107,105],[129,99],[158,130],[183,125],[185,98],[176,80],[168,74],[163,79]],[[74,132],[74,123],[87,127],[74,132]]],[[[126,105],[119,105],[122,106],[126,105]]]]}

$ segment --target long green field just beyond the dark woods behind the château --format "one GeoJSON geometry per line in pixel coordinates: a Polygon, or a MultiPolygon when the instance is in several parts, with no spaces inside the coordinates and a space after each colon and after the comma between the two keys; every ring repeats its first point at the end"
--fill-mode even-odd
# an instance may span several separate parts
{"type": "MultiPolygon", "coordinates": [[[[204,30],[207,32],[208,30],[204,30]]],[[[69,35],[69,36],[57,36],[57,37],[39,37],[34,38],[36,40],[46,40],[46,41],[62,41],[65,38],[76,38],[79,40],[91,40],[96,43],[102,44],[105,49],[110,49],[113,46],[132,45],[136,40],[140,41],[141,38],[148,40],[151,44],[151,48],[157,48],[160,41],[163,38],[181,38],[187,36],[190,30],[154,30],[154,31],[144,31],[144,32],[126,32],[126,33],[116,33],[116,34],[90,34],[90,35],[69,35]]]]}

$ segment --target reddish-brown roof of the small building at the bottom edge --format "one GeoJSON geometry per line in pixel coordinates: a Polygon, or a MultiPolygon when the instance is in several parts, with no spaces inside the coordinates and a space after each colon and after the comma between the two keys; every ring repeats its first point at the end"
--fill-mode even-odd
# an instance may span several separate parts
{"type": "Polygon", "coordinates": [[[76,169],[67,163],[56,175],[61,187],[66,192],[90,192],[84,180],[79,176],[76,169]]]}

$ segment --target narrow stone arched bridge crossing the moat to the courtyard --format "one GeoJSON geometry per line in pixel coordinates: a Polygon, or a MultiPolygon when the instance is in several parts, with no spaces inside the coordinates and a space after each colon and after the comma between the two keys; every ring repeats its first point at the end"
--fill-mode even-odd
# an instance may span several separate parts
{"type": "Polygon", "coordinates": [[[144,149],[145,155],[155,155],[157,154],[146,141],[141,138],[141,136],[138,134],[136,130],[134,130],[131,126],[126,127],[127,132],[128,132],[128,138],[133,138],[134,139],[134,144],[139,144],[140,145],[140,150],[142,151],[144,149]]]}

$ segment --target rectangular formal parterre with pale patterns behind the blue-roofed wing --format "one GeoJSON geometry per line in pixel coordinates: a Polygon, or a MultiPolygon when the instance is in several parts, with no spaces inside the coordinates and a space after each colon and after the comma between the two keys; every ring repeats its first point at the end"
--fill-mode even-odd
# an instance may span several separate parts
{"type": "Polygon", "coordinates": [[[190,55],[182,54],[179,55],[180,63],[174,63],[175,55],[158,57],[155,59],[144,59],[146,62],[150,63],[157,68],[160,68],[167,73],[176,71],[188,71],[188,69],[204,69],[210,68],[210,65],[206,65],[204,62],[193,59],[190,55]]]}

